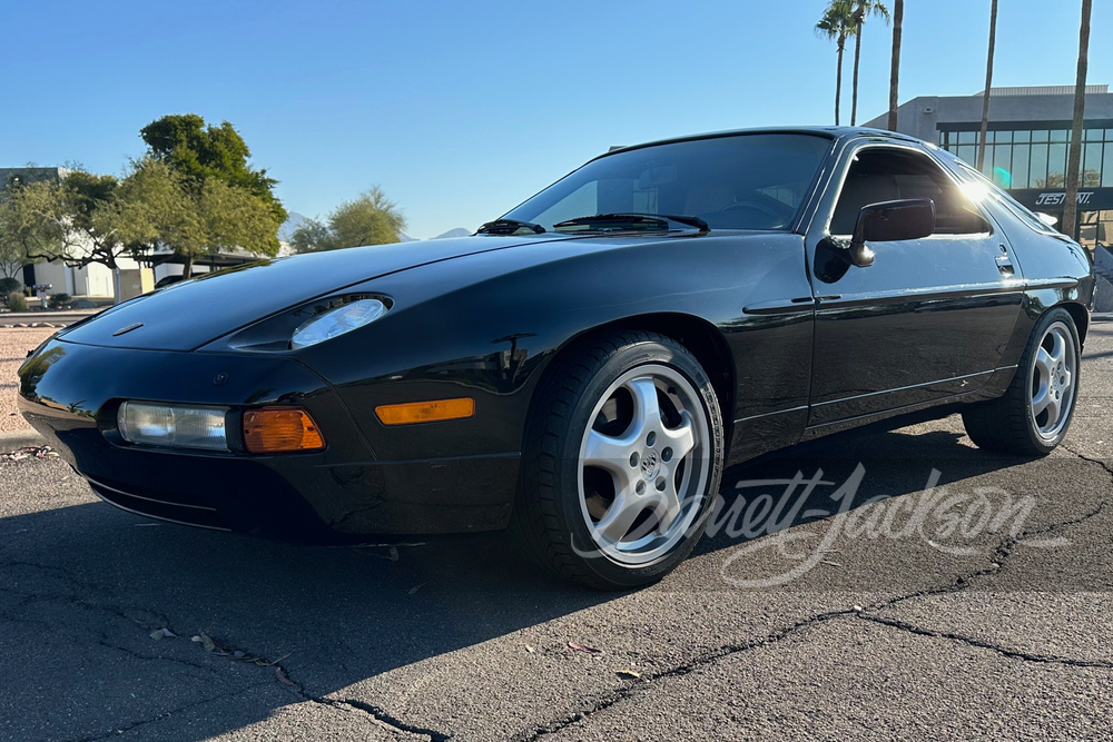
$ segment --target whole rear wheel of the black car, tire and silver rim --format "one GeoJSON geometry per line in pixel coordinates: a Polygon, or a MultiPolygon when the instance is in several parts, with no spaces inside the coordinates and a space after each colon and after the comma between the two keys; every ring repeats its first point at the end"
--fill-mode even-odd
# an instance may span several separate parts
{"type": "Polygon", "coordinates": [[[978,448],[1024,456],[1054,451],[1074,415],[1081,347],[1071,313],[1057,308],[1041,317],[1005,395],[963,412],[978,448]]]}

